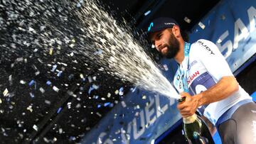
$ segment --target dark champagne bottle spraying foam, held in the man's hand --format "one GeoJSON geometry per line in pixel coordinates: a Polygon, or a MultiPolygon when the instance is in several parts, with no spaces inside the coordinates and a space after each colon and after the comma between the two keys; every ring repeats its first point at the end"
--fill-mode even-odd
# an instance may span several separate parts
{"type": "MultiPolygon", "coordinates": [[[[178,102],[185,101],[186,97],[178,99],[178,102]]],[[[194,113],[192,116],[183,118],[183,131],[189,144],[212,144],[214,143],[206,123],[200,116],[194,113]]]]}

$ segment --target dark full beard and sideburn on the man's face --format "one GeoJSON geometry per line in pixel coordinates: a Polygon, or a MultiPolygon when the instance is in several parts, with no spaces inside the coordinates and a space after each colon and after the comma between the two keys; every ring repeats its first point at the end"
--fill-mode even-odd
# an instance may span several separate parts
{"type": "Polygon", "coordinates": [[[164,57],[171,59],[174,58],[179,50],[180,44],[178,43],[178,40],[174,37],[174,34],[171,33],[171,38],[169,40],[169,45],[166,45],[167,47],[167,53],[164,55],[164,57]]]}

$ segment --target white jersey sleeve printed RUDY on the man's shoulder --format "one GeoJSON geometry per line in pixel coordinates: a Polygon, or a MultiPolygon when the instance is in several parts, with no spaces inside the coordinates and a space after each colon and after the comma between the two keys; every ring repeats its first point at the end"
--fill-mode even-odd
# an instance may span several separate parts
{"type": "Polygon", "coordinates": [[[199,61],[206,67],[206,70],[212,75],[216,80],[220,80],[225,76],[233,76],[230,70],[228,62],[225,57],[218,50],[217,45],[210,42],[209,40],[198,40],[193,43],[193,55],[198,57],[199,61]]]}

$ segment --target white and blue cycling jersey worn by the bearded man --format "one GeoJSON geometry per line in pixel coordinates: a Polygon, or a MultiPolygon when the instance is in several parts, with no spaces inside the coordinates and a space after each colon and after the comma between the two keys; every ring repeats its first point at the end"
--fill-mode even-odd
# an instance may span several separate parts
{"type": "MultiPolygon", "coordinates": [[[[185,65],[184,63],[185,60],[183,60],[181,67],[185,65]]],[[[188,90],[192,96],[209,89],[222,77],[233,76],[228,62],[225,61],[217,46],[209,40],[203,39],[191,44],[187,70],[188,90]]],[[[174,83],[175,81],[176,77],[174,77],[174,83]]],[[[177,85],[175,87],[182,92],[183,89],[180,89],[177,85]]],[[[218,118],[225,111],[244,99],[252,98],[239,86],[238,92],[221,101],[200,106],[198,112],[206,116],[215,125],[218,118]]]]}

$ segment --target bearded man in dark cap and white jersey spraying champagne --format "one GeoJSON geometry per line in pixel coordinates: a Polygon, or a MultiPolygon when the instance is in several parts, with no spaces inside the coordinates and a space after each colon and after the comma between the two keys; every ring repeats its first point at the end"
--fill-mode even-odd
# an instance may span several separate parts
{"type": "Polygon", "coordinates": [[[256,143],[256,104],[217,46],[203,39],[186,43],[172,18],[156,18],[148,32],[156,50],[178,63],[174,86],[186,96],[177,106],[181,116],[198,111],[216,126],[223,143],[256,143]]]}

